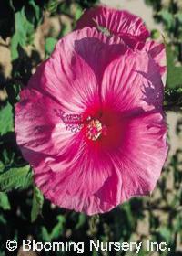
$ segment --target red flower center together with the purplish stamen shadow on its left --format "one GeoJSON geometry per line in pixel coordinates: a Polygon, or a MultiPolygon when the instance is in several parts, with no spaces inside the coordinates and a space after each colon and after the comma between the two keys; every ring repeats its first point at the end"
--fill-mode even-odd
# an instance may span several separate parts
{"type": "Polygon", "coordinates": [[[66,130],[83,133],[89,145],[113,149],[120,146],[125,138],[126,121],[112,108],[101,110],[93,107],[83,114],[59,114],[66,130]]]}

